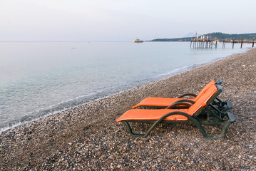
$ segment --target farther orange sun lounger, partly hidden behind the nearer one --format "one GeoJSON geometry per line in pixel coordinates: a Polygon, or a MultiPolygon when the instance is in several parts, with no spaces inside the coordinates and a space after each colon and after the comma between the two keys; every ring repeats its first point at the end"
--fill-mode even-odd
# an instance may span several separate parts
{"type": "MultiPolygon", "coordinates": [[[[214,84],[220,85],[222,83],[221,79],[218,79],[216,82],[215,81],[210,81],[208,85],[201,90],[201,92],[198,95],[195,95],[193,93],[185,93],[183,95],[180,95],[178,98],[145,98],[140,101],[137,105],[134,105],[133,108],[155,108],[155,109],[160,109],[160,108],[168,108],[169,105],[175,103],[175,102],[187,102],[187,103],[195,103],[203,93],[205,93],[210,86],[214,84]],[[193,98],[184,98],[185,96],[193,96],[193,98]]],[[[213,105],[215,105],[219,110],[222,111],[227,111],[230,108],[232,108],[232,103],[228,101],[222,101],[220,98],[215,98],[213,100],[213,105]]],[[[177,108],[184,108],[183,105],[178,106],[177,108]]]]}

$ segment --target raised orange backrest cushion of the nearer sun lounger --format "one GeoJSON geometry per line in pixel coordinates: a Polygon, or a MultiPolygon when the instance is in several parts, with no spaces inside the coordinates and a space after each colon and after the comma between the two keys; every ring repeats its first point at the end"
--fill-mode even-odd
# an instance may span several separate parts
{"type": "Polygon", "coordinates": [[[208,90],[203,93],[200,98],[188,109],[188,114],[194,115],[200,108],[203,108],[207,105],[208,100],[213,97],[213,95],[217,93],[217,88],[214,85],[210,86],[208,90]]]}

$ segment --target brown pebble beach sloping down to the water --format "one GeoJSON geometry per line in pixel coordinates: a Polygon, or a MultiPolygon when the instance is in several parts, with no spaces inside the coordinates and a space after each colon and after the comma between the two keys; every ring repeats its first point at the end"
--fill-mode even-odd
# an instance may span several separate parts
{"type": "MultiPolygon", "coordinates": [[[[254,170],[256,48],[63,111],[0,134],[1,170],[254,170]],[[223,80],[237,121],[206,140],[193,125],[159,125],[145,142],[116,118],[148,96],[198,93],[223,80]]],[[[135,129],[140,128],[135,125],[135,129]]]]}

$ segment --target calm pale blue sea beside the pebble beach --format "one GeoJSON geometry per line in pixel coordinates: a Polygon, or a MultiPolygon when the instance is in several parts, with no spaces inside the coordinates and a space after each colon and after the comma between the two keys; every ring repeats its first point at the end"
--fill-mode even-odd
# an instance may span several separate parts
{"type": "Polygon", "coordinates": [[[0,131],[216,61],[251,45],[0,42],[0,131]]]}

